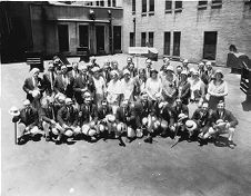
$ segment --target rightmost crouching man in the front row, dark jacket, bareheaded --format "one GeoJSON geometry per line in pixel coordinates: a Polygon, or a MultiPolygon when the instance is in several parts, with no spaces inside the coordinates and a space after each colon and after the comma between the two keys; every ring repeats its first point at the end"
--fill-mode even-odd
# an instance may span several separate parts
{"type": "Polygon", "coordinates": [[[234,144],[232,139],[237,125],[237,118],[232,115],[231,111],[225,109],[224,101],[220,100],[217,106],[217,110],[212,112],[211,127],[209,128],[208,133],[204,134],[203,139],[210,138],[215,134],[229,134],[228,145],[230,147],[233,147],[234,144]]]}

